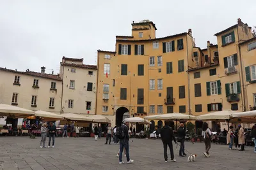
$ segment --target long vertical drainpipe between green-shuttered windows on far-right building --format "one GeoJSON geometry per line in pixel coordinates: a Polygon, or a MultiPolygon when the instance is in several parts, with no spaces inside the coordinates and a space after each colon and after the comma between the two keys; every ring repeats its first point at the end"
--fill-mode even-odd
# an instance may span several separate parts
{"type": "MultiPolygon", "coordinates": [[[[236,27],[237,29],[237,37],[238,37],[238,43],[240,41],[239,39],[239,34],[238,34],[238,26],[236,27]]],[[[239,49],[239,61],[240,61],[240,72],[241,74],[239,74],[239,79],[241,81],[241,93],[242,93],[242,105],[243,105],[243,111],[246,111],[246,104],[245,104],[245,101],[246,101],[246,98],[245,98],[245,93],[244,93],[244,88],[246,88],[244,86],[244,74],[243,74],[243,64],[242,64],[242,57],[241,57],[241,46],[238,44],[238,49],[239,49]]]]}

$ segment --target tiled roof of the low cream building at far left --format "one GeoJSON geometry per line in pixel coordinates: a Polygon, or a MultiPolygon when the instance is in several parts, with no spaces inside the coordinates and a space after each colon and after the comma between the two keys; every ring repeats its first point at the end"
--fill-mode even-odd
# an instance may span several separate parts
{"type": "Polygon", "coordinates": [[[0,67],[0,70],[2,71],[8,71],[11,73],[17,73],[17,74],[25,74],[25,75],[29,75],[29,76],[36,76],[36,77],[40,77],[40,78],[47,78],[47,79],[51,79],[51,80],[58,80],[61,81],[60,76],[56,75],[56,74],[42,74],[42,73],[38,73],[38,72],[34,72],[34,71],[16,71],[13,69],[6,69],[3,67],[0,67]]]}

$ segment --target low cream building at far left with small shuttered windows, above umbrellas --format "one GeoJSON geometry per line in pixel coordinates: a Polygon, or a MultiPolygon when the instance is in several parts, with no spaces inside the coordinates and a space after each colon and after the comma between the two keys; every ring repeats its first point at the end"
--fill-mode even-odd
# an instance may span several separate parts
{"type": "Polygon", "coordinates": [[[0,68],[0,103],[60,114],[61,78],[55,74],[0,68]]]}

